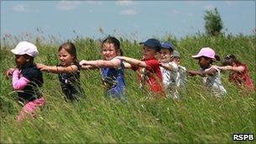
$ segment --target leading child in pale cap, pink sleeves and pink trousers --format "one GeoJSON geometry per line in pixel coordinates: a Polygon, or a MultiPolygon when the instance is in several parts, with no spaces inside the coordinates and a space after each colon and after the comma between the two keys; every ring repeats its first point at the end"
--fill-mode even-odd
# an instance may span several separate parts
{"type": "Polygon", "coordinates": [[[35,115],[36,110],[45,105],[45,98],[39,90],[44,81],[42,73],[34,63],[34,58],[38,55],[34,44],[28,41],[19,42],[12,52],[17,67],[8,69],[6,75],[13,76],[13,89],[18,92],[19,102],[24,104],[18,115],[18,121],[22,121],[27,116],[35,115]]]}

